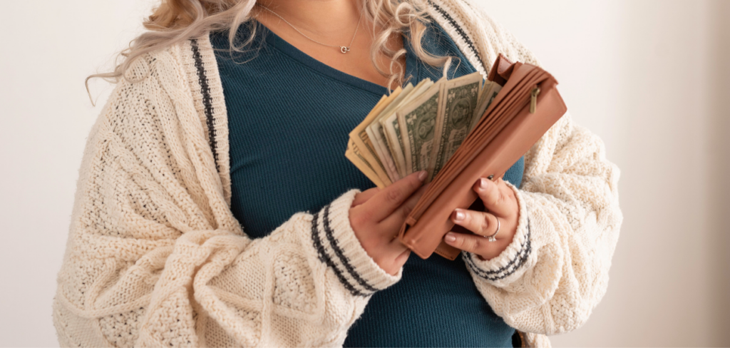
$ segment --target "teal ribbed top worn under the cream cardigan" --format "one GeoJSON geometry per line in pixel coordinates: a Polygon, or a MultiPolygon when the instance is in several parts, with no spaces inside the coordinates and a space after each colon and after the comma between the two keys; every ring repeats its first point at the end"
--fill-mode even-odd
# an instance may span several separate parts
{"type": "MultiPolygon", "coordinates": [[[[233,57],[227,33],[211,35],[228,109],[231,209],[252,238],[268,235],[296,212],[317,212],[347,190],[373,187],[345,149],[350,131],[387,93],[256,25],[252,48],[260,49],[233,57]]],[[[249,32],[242,26],[237,34],[249,32]]],[[[441,77],[406,46],[410,82],[441,77]]],[[[435,23],[424,47],[459,58],[449,78],[475,71],[435,23]]],[[[520,159],[505,179],[519,186],[522,174],[520,159]]],[[[401,281],[372,296],[345,346],[512,347],[514,332],[477,291],[461,258],[412,255],[401,281]]]]}

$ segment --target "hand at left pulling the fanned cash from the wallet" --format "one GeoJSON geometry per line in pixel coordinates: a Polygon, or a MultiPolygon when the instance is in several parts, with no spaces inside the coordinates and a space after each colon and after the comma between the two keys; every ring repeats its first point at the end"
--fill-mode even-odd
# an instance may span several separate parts
{"type": "Polygon", "coordinates": [[[388,274],[397,274],[410,250],[396,238],[412,211],[426,171],[418,171],[382,190],[375,187],[358,193],[350,207],[350,225],[367,254],[388,274]]]}

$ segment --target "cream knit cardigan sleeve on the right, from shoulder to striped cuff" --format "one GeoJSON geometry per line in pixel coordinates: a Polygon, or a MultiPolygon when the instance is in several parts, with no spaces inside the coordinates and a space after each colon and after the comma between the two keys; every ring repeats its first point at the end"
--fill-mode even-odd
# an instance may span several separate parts
{"type": "MultiPolygon", "coordinates": [[[[509,31],[469,6],[485,63],[504,53],[540,65],[509,31]]],[[[529,333],[529,344],[549,345],[542,334],[583,325],[606,292],[623,220],[619,175],[602,140],[567,112],[526,153],[520,189],[510,185],[520,209],[512,243],[491,260],[462,252],[477,289],[507,324],[529,333]]]]}

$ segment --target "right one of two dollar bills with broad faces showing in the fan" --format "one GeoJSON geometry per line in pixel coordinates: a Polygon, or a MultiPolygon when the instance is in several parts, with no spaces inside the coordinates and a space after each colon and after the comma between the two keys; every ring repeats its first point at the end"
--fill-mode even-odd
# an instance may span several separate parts
{"type": "Polygon", "coordinates": [[[434,155],[429,163],[429,179],[438,174],[469,134],[481,83],[482,76],[478,72],[444,82],[434,130],[436,136],[434,155]]]}

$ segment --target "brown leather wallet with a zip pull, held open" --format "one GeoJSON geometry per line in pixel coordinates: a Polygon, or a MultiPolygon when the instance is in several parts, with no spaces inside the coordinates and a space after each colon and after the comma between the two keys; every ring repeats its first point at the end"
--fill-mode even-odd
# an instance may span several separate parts
{"type": "Polygon", "coordinates": [[[456,208],[483,209],[472,190],[477,179],[502,177],[567,111],[558,82],[538,66],[512,63],[500,54],[487,79],[502,85],[502,90],[431,181],[399,232],[400,241],[420,258],[436,252],[456,259],[461,250],[443,237],[466,229],[455,228],[451,213],[456,208]]]}

